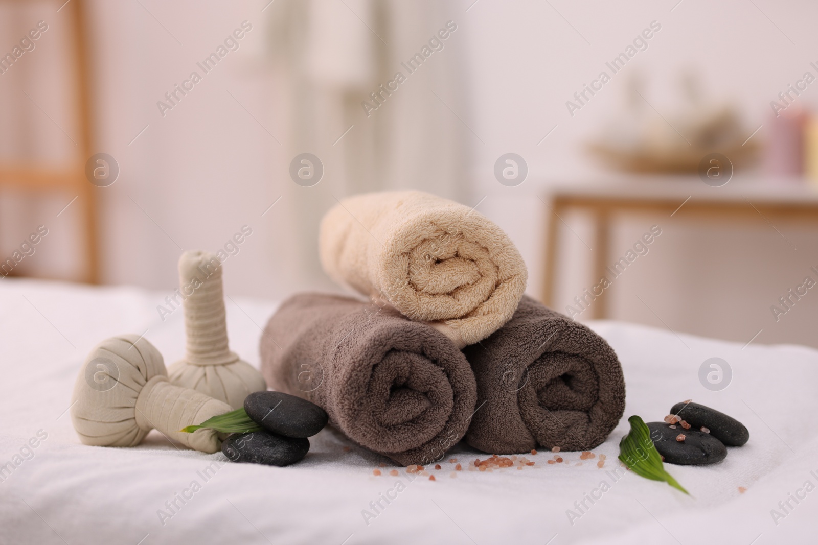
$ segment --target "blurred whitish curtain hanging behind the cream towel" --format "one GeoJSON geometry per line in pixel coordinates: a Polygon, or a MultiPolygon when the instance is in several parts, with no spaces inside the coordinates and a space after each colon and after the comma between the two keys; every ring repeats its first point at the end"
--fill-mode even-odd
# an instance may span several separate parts
{"type": "Polygon", "coordinates": [[[452,7],[448,0],[278,0],[270,6],[269,51],[285,82],[281,107],[289,110],[282,145],[288,157],[312,153],[325,168],[318,185],[285,185],[299,284],[329,287],[317,235],[335,199],[390,189],[469,198],[465,37],[462,30],[444,33],[445,40],[437,36],[456,13],[452,7]],[[443,49],[410,74],[402,62],[435,37],[443,49]],[[375,104],[370,94],[397,72],[406,81],[382,94],[380,107],[367,116],[362,102],[375,104]]]}

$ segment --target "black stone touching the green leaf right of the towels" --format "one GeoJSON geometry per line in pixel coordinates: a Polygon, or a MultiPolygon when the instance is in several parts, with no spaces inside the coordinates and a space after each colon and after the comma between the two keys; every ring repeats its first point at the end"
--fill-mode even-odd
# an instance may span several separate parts
{"type": "Polygon", "coordinates": [[[727,456],[727,447],[715,437],[696,431],[685,430],[678,424],[676,429],[665,422],[648,422],[650,440],[664,461],[680,466],[698,466],[721,462],[727,456]],[[685,434],[684,441],[677,441],[676,436],[685,434]]]}

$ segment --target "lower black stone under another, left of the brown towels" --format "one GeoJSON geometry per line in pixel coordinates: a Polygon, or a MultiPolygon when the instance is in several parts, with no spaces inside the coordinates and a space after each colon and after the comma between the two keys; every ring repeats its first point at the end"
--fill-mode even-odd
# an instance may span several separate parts
{"type": "Polygon", "coordinates": [[[231,462],[289,466],[307,455],[309,440],[277,436],[267,431],[234,433],[222,442],[222,453],[231,462]]]}

